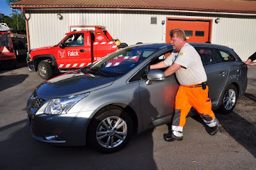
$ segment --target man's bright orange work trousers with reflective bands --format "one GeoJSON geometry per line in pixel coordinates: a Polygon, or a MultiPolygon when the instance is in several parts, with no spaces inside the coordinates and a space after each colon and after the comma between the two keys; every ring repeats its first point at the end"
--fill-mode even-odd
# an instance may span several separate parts
{"type": "Polygon", "coordinates": [[[202,87],[189,88],[188,86],[179,86],[175,98],[175,114],[172,121],[172,133],[177,137],[183,136],[183,127],[186,123],[186,116],[191,107],[194,107],[209,127],[217,125],[217,119],[212,112],[211,99],[208,98],[209,88],[202,87]]]}

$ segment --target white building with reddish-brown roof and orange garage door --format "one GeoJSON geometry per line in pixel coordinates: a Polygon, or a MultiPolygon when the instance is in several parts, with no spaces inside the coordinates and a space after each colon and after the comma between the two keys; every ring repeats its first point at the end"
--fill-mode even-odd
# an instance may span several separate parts
{"type": "Polygon", "coordinates": [[[26,0],[11,4],[26,15],[31,49],[55,45],[76,26],[106,26],[128,45],[169,42],[170,29],[188,42],[226,45],[246,60],[256,51],[256,1],[228,0],[26,0]]]}

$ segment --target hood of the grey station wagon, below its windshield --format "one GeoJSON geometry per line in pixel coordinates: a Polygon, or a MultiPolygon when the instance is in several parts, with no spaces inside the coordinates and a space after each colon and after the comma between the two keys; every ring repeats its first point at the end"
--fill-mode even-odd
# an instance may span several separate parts
{"type": "Polygon", "coordinates": [[[104,77],[77,70],[43,82],[35,89],[34,95],[42,98],[69,97],[106,88],[113,81],[115,81],[115,77],[104,77]]]}

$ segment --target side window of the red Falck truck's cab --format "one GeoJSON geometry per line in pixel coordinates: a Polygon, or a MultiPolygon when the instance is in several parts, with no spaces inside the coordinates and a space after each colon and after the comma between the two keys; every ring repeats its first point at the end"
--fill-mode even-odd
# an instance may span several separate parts
{"type": "Polygon", "coordinates": [[[70,35],[63,43],[65,47],[82,47],[84,46],[84,34],[70,35]]]}

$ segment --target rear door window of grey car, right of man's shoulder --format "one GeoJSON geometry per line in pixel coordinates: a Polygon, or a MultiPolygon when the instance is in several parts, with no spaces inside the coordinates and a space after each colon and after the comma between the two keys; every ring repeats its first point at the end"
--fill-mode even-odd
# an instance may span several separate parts
{"type": "Polygon", "coordinates": [[[195,49],[200,55],[204,66],[220,63],[220,59],[218,59],[218,55],[216,54],[214,49],[207,47],[195,47],[195,49]]]}

